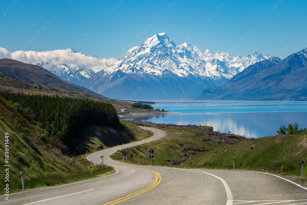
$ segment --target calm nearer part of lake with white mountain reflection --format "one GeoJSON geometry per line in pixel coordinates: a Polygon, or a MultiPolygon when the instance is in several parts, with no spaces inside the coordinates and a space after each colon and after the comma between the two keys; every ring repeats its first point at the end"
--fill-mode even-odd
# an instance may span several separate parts
{"type": "Polygon", "coordinates": [[[196,124],[212,126],[220,132],[231,131],[246,137],[276,135],[282,125],[297,122],[307,125],[307,112],[235,112],[235,113],[182,113],[168,115],[129,116],[125,120],[150,121],[164,124],[196,124]]]}

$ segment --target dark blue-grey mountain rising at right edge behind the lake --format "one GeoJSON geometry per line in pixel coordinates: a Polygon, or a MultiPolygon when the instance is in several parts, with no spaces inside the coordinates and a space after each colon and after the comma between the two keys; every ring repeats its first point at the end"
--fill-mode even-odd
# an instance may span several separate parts
{"type": "Polygon", "coordinates": [[[220,87],[205,89],[195,100],[307,100],[307,48],[281,60],[250,65],[220,87]]]}

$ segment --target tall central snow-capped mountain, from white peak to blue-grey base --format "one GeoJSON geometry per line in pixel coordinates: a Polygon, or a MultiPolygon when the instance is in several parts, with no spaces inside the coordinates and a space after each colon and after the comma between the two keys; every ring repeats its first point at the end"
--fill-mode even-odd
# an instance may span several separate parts
{"type": "Polygon", "coordinates": [[[117,99],[192,98],[269,58],[258,52],[232,57],[221,51],[200,51],[187,43],[177,45],[161,33],[131,48],[119,64],[95,73],[84,86],[117,99]]]}

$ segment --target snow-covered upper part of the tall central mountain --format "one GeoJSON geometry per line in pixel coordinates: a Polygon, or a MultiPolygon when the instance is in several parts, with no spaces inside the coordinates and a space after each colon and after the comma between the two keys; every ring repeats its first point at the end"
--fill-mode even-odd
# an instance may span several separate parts
{"type": "Polygon", "coordinates": [[[177,45],[165,33],[160,33],[148,38],[141,46],[131,48],[117,68],[108,68],[104,70],[104,74],[121,69],[124,73],[145,72],[161,75],[166,69],[179,77],[190,74],[208,76],[212,79],[230,79],[249,65],[269,58],[270,56],[263,56],[259,52],[232,57],[221,51],[217,53],[212,53],[208,49],[200,51],[196,46],[187,43],[177,45]],[[128,69],[132,67],[133,70],[128,69]]]}

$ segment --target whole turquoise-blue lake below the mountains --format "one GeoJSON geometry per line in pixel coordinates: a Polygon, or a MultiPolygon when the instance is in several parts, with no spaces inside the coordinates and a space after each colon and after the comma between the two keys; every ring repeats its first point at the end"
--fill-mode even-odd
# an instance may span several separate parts
{"type": "MultiPolygon", "coordinates": [[[[176,102],[176,101],[175,101],[176,102]]],[[[157,103],[157,102],[156,102],[157,103]]],[[[191,102],[152,105],[181,114],[129,116],[125,120],[163,124],[196,124],[212,126],[220,132],[231,131],[246,137],[276,135],[276,130],[289,123],[307,126],[307,102],[191,102]]]]}

